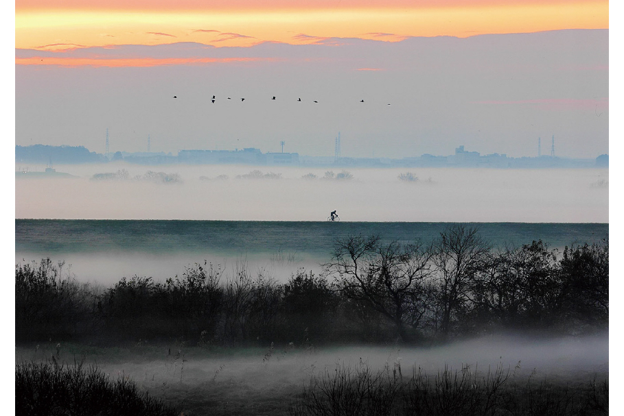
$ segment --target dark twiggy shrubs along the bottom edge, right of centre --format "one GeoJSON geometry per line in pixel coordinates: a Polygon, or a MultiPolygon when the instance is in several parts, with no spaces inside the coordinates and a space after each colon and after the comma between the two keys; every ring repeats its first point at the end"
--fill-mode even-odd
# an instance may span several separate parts
{"type": "Polygon", "coordinates": [[[421,369],[404,379],[395,363],[383,371],[365,365],[338,367],[312,378],[289,404],[291,416],[320,415],[606,415],[608,380],[567,384],[514,380],[497,367],[481,373],[470,366],[444,367],[429,376],[421,369]]]}

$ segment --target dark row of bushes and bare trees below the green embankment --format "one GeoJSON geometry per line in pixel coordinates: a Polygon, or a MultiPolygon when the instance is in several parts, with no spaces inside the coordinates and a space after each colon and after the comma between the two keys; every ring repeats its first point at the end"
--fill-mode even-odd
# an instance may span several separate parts
{"type": "Polygon", "coordinates": [[[459,224],[429,245],[340,239],[320,276],[300,269],[284,284],[204,262],[108,289],[62,278],[63,264],[47,258],[16,265],[16,341],[309,346],[588,333],[608,328],[608,254],[606,239],[563,252],[542,241],[492,249],[459,224]]]}

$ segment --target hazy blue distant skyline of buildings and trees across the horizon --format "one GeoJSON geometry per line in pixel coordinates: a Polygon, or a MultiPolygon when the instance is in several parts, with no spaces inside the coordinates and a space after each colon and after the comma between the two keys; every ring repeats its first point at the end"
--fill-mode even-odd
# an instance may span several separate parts
{"type": "Polygon", "coordinates": [[[86,147],[71,146],[16,146],[16,172],[37,172],[29,164],[45,162],[46,172],[56,164],[84,164],[128,162],[141,165],[248,165],[267,167],[335,167],[335,168],[495,168],[495,169],[542,169],[542,168],[608,168],[609,156],[597,158],[559,158],[551,149],[551,155],[507,157],[506,154],[481,154],[466,150],[460,145],[451,155],[404,155],[403,158],[351,158],[340,155],[340,145],[336,138],[334,156],[308,156],[297,152],[263,152],[261,149],[181,149],[171,152],[116,151],[114,154],[91,152],[86,147]]]}

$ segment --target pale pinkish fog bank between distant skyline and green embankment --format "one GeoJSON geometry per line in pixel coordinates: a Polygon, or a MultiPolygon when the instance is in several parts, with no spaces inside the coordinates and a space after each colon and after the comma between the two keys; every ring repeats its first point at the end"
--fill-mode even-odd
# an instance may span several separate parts
{"type": "Polygon", "coordinates": [[[80,178],[16,180],[16,218],[325,221],[337,210],[342,221],[608,222],[608,169],[56,169],[80,178]]]}

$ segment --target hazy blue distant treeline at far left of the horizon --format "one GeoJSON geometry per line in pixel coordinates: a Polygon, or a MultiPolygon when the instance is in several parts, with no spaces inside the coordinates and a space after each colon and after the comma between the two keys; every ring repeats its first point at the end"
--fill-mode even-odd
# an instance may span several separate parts
{"type": "Polygon", "coordinates": [[[84,146],[15,146],[15,162],[20,163],[93,163],[108,162],[101,154],[84,146]]]}

